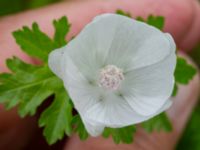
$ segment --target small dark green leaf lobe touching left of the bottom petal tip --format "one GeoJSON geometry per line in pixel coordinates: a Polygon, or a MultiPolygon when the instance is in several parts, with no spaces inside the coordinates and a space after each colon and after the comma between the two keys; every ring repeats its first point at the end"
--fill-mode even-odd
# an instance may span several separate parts
{"type": "Polygon", "coordinates": [[[81,140],[86,140],[89,136],[85,129],[85,126],[79,115],[75,115],[72,119],[72,126],[74,127],[74,132],[78,133],[81,140]]]}

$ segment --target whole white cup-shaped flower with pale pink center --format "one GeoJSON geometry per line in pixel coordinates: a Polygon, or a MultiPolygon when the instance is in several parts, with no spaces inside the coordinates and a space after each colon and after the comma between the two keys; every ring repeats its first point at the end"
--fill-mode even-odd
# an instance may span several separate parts
{"type": "Polygon", "coordinates": [[[103,14],[49,66],[59,76],[92,136],[166,110],[174,86],[175,43],[167,33],[128,17],[103,14]]]}

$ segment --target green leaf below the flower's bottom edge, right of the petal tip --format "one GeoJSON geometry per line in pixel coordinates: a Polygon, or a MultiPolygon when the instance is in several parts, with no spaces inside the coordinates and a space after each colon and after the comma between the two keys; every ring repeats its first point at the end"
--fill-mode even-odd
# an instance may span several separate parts
{"type": "Polygon", "coordinates": [[[136,127],[134,125],[131,125],[123,128],[105,128],[102,135],[105,138],[112,136],[113,141],[116,144],[119,143],[130,144],[133,142],[133,137],[135,132],[136,132],[136,127]]]}

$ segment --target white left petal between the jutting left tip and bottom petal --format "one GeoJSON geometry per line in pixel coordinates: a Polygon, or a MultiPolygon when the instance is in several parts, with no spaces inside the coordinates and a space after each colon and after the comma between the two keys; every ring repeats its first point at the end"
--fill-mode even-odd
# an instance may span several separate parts
{"type": "Polygon", "coordinates": [[[67,58],[64,63],[65,68],[67,68],[63,71],[64,86],[68,90],[75,108],[82,114],[88,107],[99,101],[100,88],[90,83],[70,58],[67,58]]]}

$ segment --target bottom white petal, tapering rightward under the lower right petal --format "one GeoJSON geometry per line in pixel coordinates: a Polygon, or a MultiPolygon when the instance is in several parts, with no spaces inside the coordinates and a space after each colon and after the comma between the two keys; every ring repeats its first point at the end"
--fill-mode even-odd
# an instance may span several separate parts
{"type": "Polygon", "coordinates": [[[104,124],[106,127],[120,128],[151,119],[168,109],[172,104],[171,100],[165,100],[163,106],[157,110],[155,114],[150,116],[142,116],[134,112],[134,110],[126,103],[124,99],[113,96],[108,98],[109,100],[112,99],[113,101],[117,100],[116,102],[110,102],[110,105],[103,104],[107,102],[106,100],[102,101],[101,103],[97,103],[95,106],[86,111],[83,118],[87,118],[87,121],[91,123],[95,122],[96,124],[104,124]]]}

